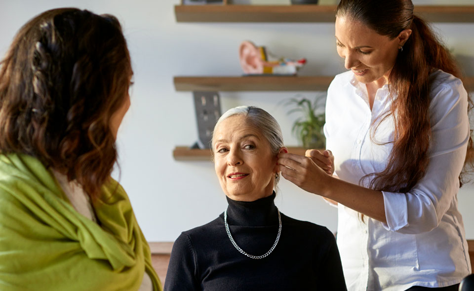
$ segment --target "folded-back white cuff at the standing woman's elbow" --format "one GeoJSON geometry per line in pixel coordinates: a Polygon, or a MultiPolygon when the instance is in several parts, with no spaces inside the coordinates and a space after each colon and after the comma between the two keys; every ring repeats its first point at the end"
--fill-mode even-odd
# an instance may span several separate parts
{"type": "Polygon", "coordinates": [[[385,229],[397,231],[408,225],[408,205],[403,193],[382,191],[385,204],[385,218],[387,223],[382,222],[385,229]]]}

